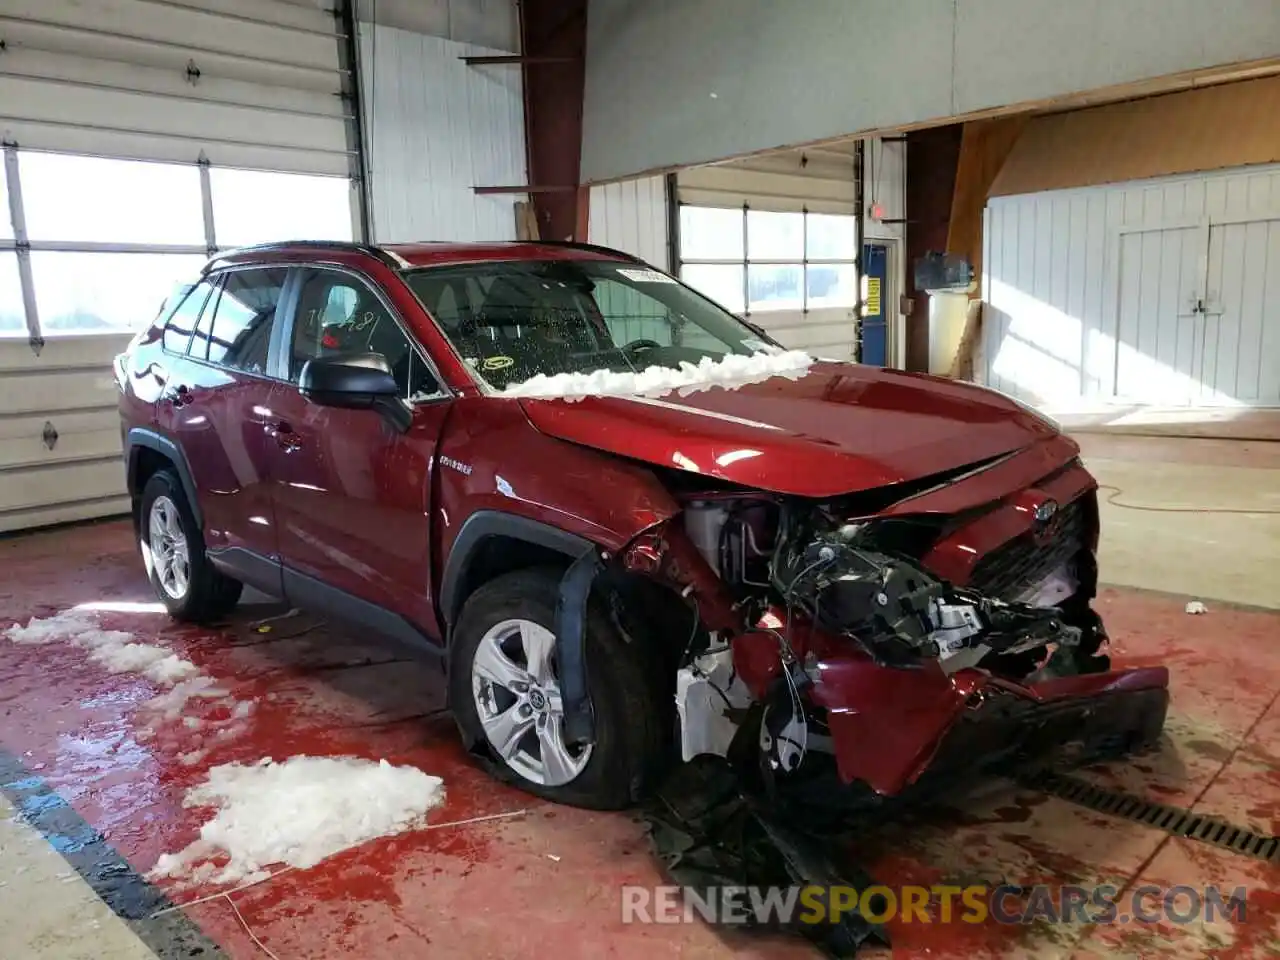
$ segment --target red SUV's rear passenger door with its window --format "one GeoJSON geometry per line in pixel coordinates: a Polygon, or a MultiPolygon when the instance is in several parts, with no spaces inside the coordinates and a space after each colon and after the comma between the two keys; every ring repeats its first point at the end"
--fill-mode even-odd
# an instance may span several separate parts
{"type": "Polygon", "coordinates": [[[284,268],[261,266],[205,278],[170,319],[164,343],[175,356],[161,401],[161,424],[198,492],[210,554],[275,591],[264,428],[269,343],[287,276],[284,268]]]}

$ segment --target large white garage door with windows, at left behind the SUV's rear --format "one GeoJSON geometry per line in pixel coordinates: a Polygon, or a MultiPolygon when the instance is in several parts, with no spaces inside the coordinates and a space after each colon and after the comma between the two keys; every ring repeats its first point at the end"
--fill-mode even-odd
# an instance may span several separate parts
{"type": "Polygon", "coordinates": [[[211,252],[352,238],[324,6],[0,0],[0,531],[127,507],[110,361],[211,252]]]}

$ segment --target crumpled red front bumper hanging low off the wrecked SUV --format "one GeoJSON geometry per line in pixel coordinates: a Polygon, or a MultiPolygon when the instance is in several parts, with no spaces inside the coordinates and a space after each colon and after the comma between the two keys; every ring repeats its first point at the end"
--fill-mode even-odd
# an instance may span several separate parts
{"type": "Polygon", "coordinates": [[[1021,686],[937,663],[882,667],[850,655],[818,662],[809,694],[826,708],[841,780],[895,796],[922,781],[1012,772],[1066,755],[1152,745],[1169,707],[1164,667],[1021,686]]]}

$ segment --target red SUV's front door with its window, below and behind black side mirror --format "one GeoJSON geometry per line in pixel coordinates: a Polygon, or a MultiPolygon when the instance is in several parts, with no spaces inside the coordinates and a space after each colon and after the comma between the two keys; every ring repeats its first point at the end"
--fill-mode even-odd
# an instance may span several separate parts
{"type": "MultiPolygon", "coordinates": [[[[284,346],[288,383],[268,403],[285,591],[298,605],[361,621],[381,611],[434,636],[430,468],[451,397],[374,283],[338,268],[300,273],[284,346]],[[306,361],[343,352],[387,357],[413,407],[406,433],[378,411],[324,407],[301,394],[306,361]]],[[[396,632],[397,625],[374,626],[396,632]]]]}

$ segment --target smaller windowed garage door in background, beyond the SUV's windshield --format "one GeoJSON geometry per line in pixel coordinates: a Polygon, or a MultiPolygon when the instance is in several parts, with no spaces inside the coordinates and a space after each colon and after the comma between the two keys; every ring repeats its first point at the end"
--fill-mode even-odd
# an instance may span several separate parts
{"type": "Polygon", "coordinates": [[[680,275],[783,346],[856,356],[854,146],[682,170],[680,275]]]}

